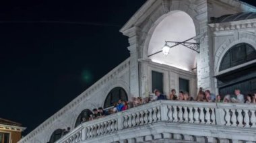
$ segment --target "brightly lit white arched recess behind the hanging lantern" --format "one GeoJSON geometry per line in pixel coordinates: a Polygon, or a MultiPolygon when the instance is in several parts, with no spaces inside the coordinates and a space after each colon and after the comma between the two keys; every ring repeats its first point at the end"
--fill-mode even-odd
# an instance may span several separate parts
{"type": "MultiPolygon", "coordinates": [[[[195,36],[193,19],[183,11],[171,11],[154,29],[148,45],[148,55],[162,50],[165,41],[182,42],[195,36]]],[[[193,50],[180,45],[171,48],[168,56],[159,53],[149,58],[153,62],[191,71],[196,66],[196,54],[193,50]]]]}

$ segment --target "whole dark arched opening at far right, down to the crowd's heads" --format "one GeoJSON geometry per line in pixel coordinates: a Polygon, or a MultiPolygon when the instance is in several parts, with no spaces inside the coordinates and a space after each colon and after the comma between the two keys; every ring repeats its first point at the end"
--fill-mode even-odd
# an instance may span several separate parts
{"type": "Polygon", "coordinates": [[[234,89],[240,89],[243,94],[256,92],[256,62],[247,64],[256,59],[256,50],[247,43],[239,43],[224,54],[218,75],[219,93],[223,96],[232,95],[234,89]],[[234,68],[240,66],[239,68],[234,68]],[[234,69],[232,69],[234,68],[234,69]]]}

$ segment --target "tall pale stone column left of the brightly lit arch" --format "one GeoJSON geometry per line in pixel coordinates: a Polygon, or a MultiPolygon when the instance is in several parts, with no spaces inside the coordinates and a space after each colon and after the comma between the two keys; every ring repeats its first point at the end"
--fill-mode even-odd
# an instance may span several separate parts
{"type": "Polygon", "coordinates": [[[128,50],[130,51],[130,93],[132,97],[139,97],[139,31],[137,27],[130,28],[123,32],[129,37],[128,50]]]}

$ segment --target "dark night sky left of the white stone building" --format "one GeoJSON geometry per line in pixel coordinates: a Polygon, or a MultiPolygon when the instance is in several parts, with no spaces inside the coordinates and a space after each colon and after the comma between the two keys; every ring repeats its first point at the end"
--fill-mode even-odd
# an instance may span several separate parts
{"type": "Polygon", "coordinates": [[[119,30],[145,2],[1,1],[0,117],[26,135],[123,62],[119,30]]]}

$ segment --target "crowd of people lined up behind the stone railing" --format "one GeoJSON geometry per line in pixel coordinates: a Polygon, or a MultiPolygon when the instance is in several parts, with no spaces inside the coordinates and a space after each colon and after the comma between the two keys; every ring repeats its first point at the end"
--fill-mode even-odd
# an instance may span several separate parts
{"type": "Polygon", "coordinates": [[[92,112],[90,112],[88,119],[84,119],[83,122],[86,122],[88,120],[95,120],[106,115],[117,113],[119,111],[125,111],[129,108],[137,107],[139,105],[143,105],[157,100],[199,101],[216,103],[256,103],[256,93],[254,93],[253,95],[248,94],[246,97],[244,97],[239,89],[235,89],[234,96],[226,95],[222,98],[221,95],[216,96],[209,90],[203,91],[203,89],[200,88],[197,96],[193,98],[191,97],[191,95],[189,95],[188,92],[180,91],[177,95],[176,90],[172,89],[170,95],[166,96],[163,95],[158,89],[155,89],[154,94],[146,98],[132,97],[131,101],[123,101],[120,99],[117,103],[114,103],[113,107],[110,107],[107,110],[104,110],[102,107],[99,107],[98,109],[95,108],[92,110],[92,112]]]}

